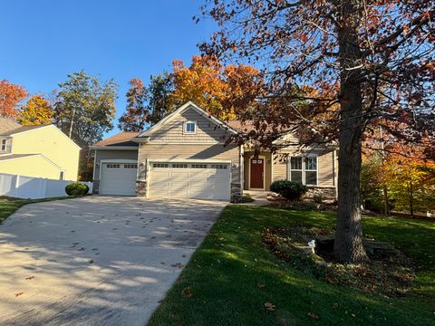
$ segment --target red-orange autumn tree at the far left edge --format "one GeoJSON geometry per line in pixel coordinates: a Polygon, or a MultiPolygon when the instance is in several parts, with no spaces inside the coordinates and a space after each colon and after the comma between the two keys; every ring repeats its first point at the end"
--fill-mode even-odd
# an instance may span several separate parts
{"type": "Polygon", "coordinates": [[[21,85],[0,81],[0,117],[16,118],[21,101],[27,97],[27,91],[21,85]]]}

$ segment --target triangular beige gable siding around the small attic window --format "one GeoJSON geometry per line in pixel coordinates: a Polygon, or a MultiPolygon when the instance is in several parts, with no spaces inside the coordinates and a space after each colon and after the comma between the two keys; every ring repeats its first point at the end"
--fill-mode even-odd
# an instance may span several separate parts
{"type": "Polygon", "coordinates": [[[150,135],[151,143],[214,143],[225,142],[229,133],[219,128],[215,123],[201,116],[198,111],[188,109],[170,120],[160,129],[150,135]],[[184,123],[186,121],[197,122],[197,132],[195,134],[185,134],[184,123]]]}

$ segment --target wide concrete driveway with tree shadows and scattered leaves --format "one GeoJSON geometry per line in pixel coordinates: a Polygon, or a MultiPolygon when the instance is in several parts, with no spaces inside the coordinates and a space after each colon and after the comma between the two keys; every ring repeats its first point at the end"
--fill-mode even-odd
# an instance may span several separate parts
{"type": "Polygon", "coordinates": [[[84,197],[0,225],[2,325],[143,326],[226,203],[84,197]]]}

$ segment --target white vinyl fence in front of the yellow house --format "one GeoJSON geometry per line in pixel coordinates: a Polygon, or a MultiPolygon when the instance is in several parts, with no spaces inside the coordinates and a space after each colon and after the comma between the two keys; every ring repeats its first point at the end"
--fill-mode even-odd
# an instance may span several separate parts
{"type": "MultiPolygon", "coordinates": [[[[0,173],[0,196],[17,198],[63,197],[66,185],[75,181],[53,180],[43,177],[26,177],[0,173]]],[[[92,182],[82,182],[92,194],[92,182]]]]}

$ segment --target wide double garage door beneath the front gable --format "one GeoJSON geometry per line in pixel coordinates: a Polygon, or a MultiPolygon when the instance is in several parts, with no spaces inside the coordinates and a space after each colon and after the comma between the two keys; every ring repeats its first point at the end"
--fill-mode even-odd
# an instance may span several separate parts
{"type": "Polygon", "coordinates": [[[151,163],[150,197],[229,200],[227,163],[151,163]]]}

